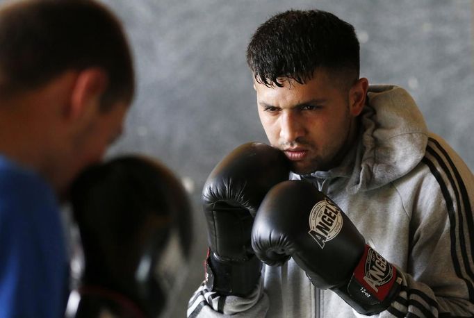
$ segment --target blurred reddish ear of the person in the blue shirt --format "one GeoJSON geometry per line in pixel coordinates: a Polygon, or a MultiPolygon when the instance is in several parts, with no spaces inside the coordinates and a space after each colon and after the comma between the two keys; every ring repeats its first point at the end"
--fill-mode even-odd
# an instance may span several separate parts
{"type": "Polygon", "coordinates": [[[72,87],[67,116],[77,118],[95,103],[98,107],[107,85],[108,76],[103,69],[91,67],[79,72],[72,87]]]}

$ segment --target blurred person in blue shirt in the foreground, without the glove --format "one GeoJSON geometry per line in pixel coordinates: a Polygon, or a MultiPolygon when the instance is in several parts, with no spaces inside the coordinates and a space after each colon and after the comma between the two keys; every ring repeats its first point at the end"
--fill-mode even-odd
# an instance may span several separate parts
{"type": "Polygon", "coordinates": [[[58,207],[122,132],[134,93],[122,25],[95,1],[0,8],[0,317],[63,317],[58,207]]]}

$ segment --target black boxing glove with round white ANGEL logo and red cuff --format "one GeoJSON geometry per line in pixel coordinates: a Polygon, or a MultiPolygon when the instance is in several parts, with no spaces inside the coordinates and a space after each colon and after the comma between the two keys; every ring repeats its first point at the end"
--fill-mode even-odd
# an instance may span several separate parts
{"type": "Polygon", "coordinates": [[[285,181],[268,192],[254,221],[252,248],[272,266],[293,257],[313,285],[333,290],[363,315],[386,310],[400,289],[395,267],[305,181],[285,181]]]}

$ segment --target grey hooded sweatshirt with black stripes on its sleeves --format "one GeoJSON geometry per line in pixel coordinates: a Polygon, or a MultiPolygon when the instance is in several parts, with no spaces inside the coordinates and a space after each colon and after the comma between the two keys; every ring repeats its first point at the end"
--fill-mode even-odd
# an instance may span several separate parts
{"type": "MultiPolygon", "coordinates": [[[[410,95],[371,86],[358,142],[311,181],[351,219],[366,243],[400,272],[402,288],[373,317],[474,317],[474,177],[441,137],[427,131],[410,95]]],[[[366,317],[331,290],[314,287],[293,259],[263,266],[243,298],[204,283],[188,317],[366,317]]]]}

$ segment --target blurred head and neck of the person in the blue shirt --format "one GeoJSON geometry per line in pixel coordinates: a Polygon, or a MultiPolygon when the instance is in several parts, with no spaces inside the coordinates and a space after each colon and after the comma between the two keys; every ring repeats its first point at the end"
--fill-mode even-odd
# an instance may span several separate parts
{"type": "Polygon", "coordinates": [[[134,88],[122,25],[99,3],[25,0],[0,9],[0,133],[10,138],[1,151],[58,192],[120,135],[134,88]]]}

